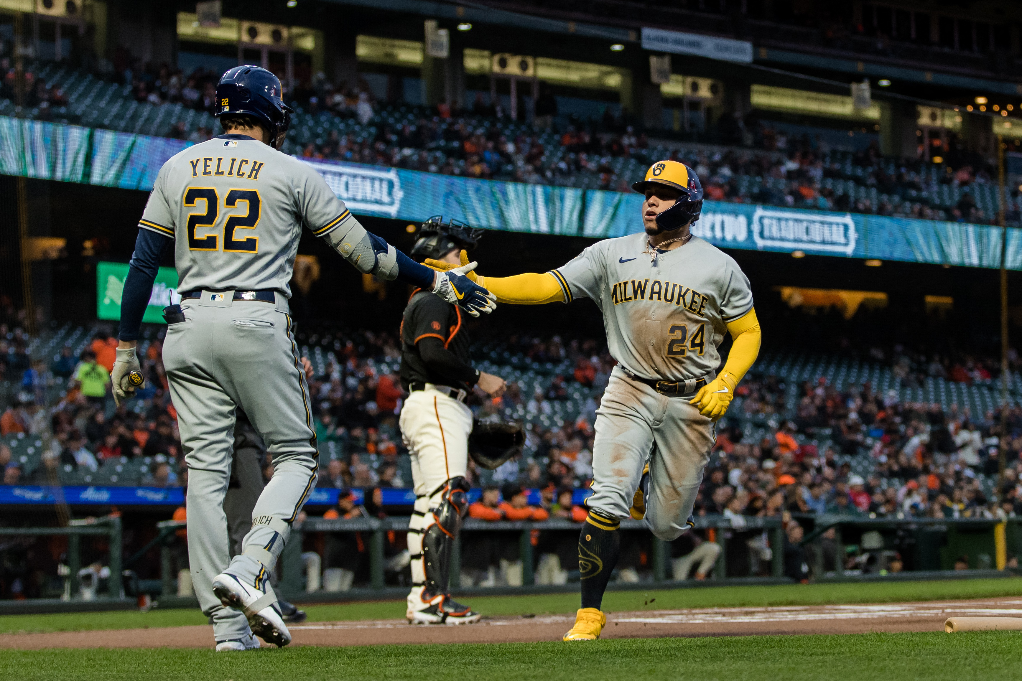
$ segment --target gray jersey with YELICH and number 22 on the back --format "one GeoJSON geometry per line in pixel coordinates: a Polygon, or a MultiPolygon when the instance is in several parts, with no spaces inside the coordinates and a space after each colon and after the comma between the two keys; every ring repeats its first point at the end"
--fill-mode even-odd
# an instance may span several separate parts
{"type": "Polygon", "coordinates": [[[250,137],[221,135],[164,163],[139,227],[175,238],[179,291],[289,297],[301,228],[322,237],[347,220],[309,165],[250,137]]]}

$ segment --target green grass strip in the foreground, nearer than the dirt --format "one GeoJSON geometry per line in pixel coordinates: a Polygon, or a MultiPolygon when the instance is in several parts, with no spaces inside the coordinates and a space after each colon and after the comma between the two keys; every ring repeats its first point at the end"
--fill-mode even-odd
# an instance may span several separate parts
{"type": "Polygon", "coordinates": [[[0,655],[0,678],[1000,681],[1022,679],[1020,644],[1017,632],[933,632],[296,647],[227,654],[192,649],[7,650],[0,655]]]}

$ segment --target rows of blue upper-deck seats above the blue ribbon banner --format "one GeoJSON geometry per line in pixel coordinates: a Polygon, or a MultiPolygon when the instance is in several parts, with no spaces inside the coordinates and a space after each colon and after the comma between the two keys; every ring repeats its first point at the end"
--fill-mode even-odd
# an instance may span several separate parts
{"type": "MultiPolygon", "coordinates": [[[[0,100],[0,115],[16,113],[193,140],[206,139],[218,129],[208,111],[181,102],[139,102],[131,85],[110,83],[59,62],[31,62],[28,70],[35,74],[36,82],[48,85],[48,92],[60,93],[59,105],[50,107],[39,102],[15,112],[12,102],[4,99],[0,100]]],[[[505,150],[482,163],[482,177],[499,180],[626,191],[650,162],[673,157],[700,167],[704,187],[719,186],[726,193],[725,200],[979,223],[992,223],[997,211],[996,188],[982,173],[974,181],[953,180],[946,164],[927,161],[901,163],[826,149],[803,154],[806,145],[796,143],[783,152],[667,141],[622,147],[614,146],[620,137],[613,131],[594,133],[601,139],[584,153],[562,146],[558,134],[525,123],[473,114],[439,119],[432,109],[423,106],[385,105],[364,125],[330,111],[314,112],[308,104],[295,104],[295,109],[291,133],[282,149],[294,155],[473,176],[480,165],[470,165],[481,154],[468,153],[465,142],[478,135],[491,141],[504,138],[515,145],[513,153],[505,150]],[[412,138],[403,137],[405,130],[414,131],[412,138],[418,146],[408,146],[412,138]],[[343,150],[338,150],[338,143],[344,145],[343,150]],[[542,148],[539,158],[530,154],[526,157],[533,145],[542,148]],[[822,165],[823,177],[815,181],[805,177],[805,161],[810,156],[822,165]],[[774,169],[770,174],[743,172],[749,159],[760,168],[774,169]],[[804,194],[795,191],[792,185],[799,181],[812,189],[808,192],[811,198],[803,199],[804,194]],[[847,204],[841,197],[847,197],[847,204]],[[923,214],[924,208],[937,214],[923,214]],[[959,215],[956,209],[967,214],[959,215]]],[[[655,135],[654,131],[649,133],[655,135]]],[[[1022,213],[1022,197],[1006,190],[1005,199],[1008,220],[1015,224],[1022,213]]]]}

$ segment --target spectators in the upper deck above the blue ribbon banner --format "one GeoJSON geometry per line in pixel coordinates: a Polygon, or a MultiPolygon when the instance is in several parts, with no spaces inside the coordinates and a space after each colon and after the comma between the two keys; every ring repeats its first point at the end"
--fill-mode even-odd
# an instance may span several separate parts
{"type": "MultiPolygon", "coordinates": [[[[0,61],[6,71],[0,97],[10,99],[12,62],[0,61]]],[[[39,65],[49,74],[42,62],[39,65]]],[[[101,66],[98,76],[117,83],[131,102],[153,110],[175,107],[173,114],[155,115],[166,129],[153,134],[201,142],[219,132],[210,116],[219,74],[145,63],[125,48],[101,66]],[[202,115],[182,116],[182,111],[202,115]]],[[[72,100],[88,95],[76,93],[29,69],[26,106],[18,115],[85,120],[85,112],[76,118],[72,100]]],[[[602,107],[601,116],[588,119],[557,116],[554,97],[547,98],[549,113],[514,121],[489,102],[489,94],[476,93],[464,106],[388,104],[377,101],[363,79],[332,84],[322,74],[286,96],[297,113],[283,150],[309,158],[630,191],[648,163],[669,157],[691,165],[703,182],[706,198],[712,200],[978,224],[996,220],[996,174],[978,155],[950,145],[940,151],[941,163],[889,158],[880,154],[875,135],[866,138],[872,143],[857,145],[854,151],[832,148],[831,138],[822,136],[820,129],[778,125],[756,109],[745,115],[722,113],[696,134],[713,143],[706,145],[665,139],[678,137],[670,131],[642,130],[634,116],[615,113],[609,106],[602,107]]],[[[138,132],[146,119],[136,107],[113,111],[112,119],[91,125],[138,132]]],[[[865,129],[849,132],[873,134],[865,129]]],[[[1022,220],[1022,199],[1017,189],[1009,198],[1006,220],[1016,224],[1022,220]]]]}

